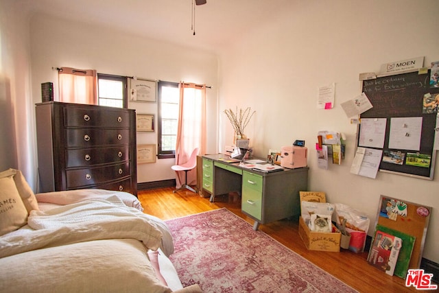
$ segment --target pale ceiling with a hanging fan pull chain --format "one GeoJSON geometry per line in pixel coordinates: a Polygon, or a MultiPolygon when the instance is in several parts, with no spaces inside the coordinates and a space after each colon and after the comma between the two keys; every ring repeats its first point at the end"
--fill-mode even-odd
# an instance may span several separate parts
{"type": "Polygon", "coordinates": [[[31,12],[102,25],[129,34],[219,51],[288,11],[294,0],[21,0],[31,12]]]}

